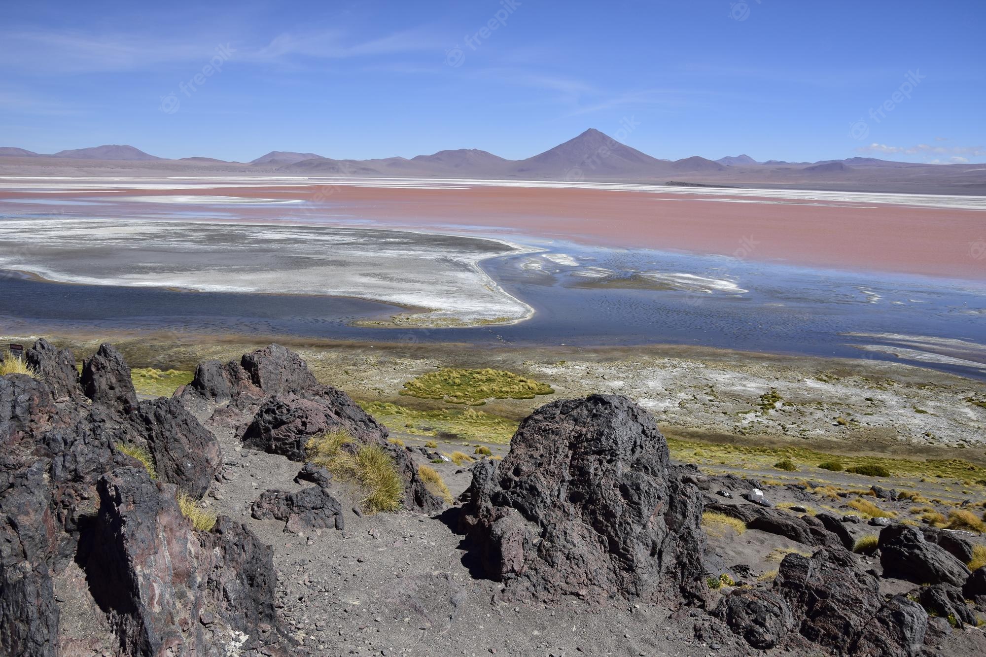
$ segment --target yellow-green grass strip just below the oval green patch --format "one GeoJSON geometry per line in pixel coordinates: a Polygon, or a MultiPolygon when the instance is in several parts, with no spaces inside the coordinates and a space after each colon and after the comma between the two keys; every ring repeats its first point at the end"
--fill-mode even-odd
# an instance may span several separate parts
{"type": "Polygon", "coordinates": [[[465,440],[509,443],[517,431],[517,422],[474,408],[421,410],[384,401],[360,405],[391,430],[417,436],[452,434],[465,440]]]}

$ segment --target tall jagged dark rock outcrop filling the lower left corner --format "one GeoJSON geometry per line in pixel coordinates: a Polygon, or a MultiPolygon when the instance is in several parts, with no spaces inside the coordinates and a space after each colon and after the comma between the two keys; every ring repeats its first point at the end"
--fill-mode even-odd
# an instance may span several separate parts
{"type": "Polygon", "coordinates": [[[215,437],[176,402],[137,403],[109,345],[78,383],[70,352],[39,340],[28,353],[39,380],[0,377],[0,654],[54,657],[73,644],[55,597],[62,578],[103,619],[107,651],[279,654],[291,641],[274,614],[270,548],[229,519],[194,531],[164,483],[204,492],[194,481],[215,474],[215,437]],[[114,449],[121,441],[148,446],[159,482],[114,449]],[[257,635],[258,623],[271,630],[257,635]]]}

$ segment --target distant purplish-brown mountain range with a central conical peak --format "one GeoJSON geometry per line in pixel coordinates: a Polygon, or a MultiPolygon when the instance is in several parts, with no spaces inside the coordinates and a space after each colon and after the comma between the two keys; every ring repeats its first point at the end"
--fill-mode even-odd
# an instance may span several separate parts
{"type": "Polygon", "coordinates": [[[413,158],[348,160],[317,153],[271,151],[248,163],[208,157],[167,160],[133,146],[106,145],[41,154],[0,147],[0,171],[30,173],[41,167],[75,169],[99,175],[106,169],[127,169],[134,175],[158,171],[170,174],[263,174],[312,177],[452,178],[604,183],[680,183],[716,186],[801,186],[867,191],[924,193],[986,193],[983,165],[928,165],[877,158],[848,158],[819,162],[758,162],[748,155],[709,160],[692,156],[662,160],[622,144],[590,128],[543,153],[524,160],[507,160],[476,149],[439,151],[413,158]]]}

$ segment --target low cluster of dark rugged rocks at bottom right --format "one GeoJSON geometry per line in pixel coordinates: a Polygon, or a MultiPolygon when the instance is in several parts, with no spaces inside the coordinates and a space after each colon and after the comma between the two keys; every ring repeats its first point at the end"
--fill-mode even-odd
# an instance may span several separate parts
{"type": "Polygon", "coordinates": [[[884,602],[875,575],[842,547],[789,554],[764,589],[735,589],[714,615],[755,648],[793,644],[788,631],[845,655],[914,657],[928,614],[904,596],[884,602]]]}

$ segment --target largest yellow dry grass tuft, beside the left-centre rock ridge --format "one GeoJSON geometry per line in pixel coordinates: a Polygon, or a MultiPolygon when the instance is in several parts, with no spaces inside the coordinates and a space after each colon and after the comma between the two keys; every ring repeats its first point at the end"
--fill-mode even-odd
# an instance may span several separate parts
{"type": "Polygon", "coordinates": [[[371,513],[394,511],[404,498],[404,481],[393,459],[378,445],[356,445],[345,429],[328,431],[305,445],[308,460],[340,479],[354,481],[366,491],[363,504],[371,513]]]}

